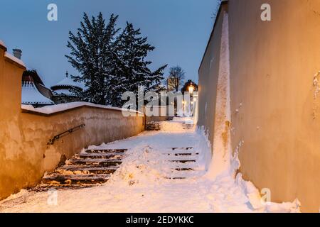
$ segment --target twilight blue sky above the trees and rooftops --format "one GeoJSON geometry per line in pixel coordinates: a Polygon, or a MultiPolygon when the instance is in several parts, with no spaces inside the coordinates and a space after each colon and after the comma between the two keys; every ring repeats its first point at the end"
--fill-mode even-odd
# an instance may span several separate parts
{"type": "MultiPolygon", "coordinates": [[[[186,79],[198,82],[198,67],[213,26],[216,0],[0,0],[0,40],[9,52],[20,48],[28,68],[38,71],[50,87],[75,74],[65,58],[68,31],[80,26],[83,12],[105,18],[119,14],[117,25],[126,21],[141,28],[156,47],[149,55],[152,69],[180,65],[186,79]],[[47,6],[58,5],[58,21],[47,20],[47,6]]],[[[169,67],[165,76],[168,74],[169,67]]]]}

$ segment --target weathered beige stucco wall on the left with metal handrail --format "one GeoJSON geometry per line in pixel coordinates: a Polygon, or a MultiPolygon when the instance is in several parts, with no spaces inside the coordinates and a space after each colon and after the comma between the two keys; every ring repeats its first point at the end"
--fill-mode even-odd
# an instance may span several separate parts
{"type": "Polygon", "coordinates": [[[0,48],[0,199],[22,188],[32,187],[44,172],[54,170],[61,155],[71,157],[88,145],[100,145],[144,131],[142,116],[82,106],[56,114],[21,110],[21,76],[24,68],[4,59],[0,48]],[[54,135],[85,123],[53,145],[54,135]]]}

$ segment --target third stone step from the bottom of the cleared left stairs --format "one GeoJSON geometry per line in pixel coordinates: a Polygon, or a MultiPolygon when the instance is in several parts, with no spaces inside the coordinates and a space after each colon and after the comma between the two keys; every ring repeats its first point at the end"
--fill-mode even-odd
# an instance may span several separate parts
{"type": "Polygon", "coordinates": [[[105,167],[104,165],[65,165],[58,168],[55,172],[60,174],[68,174],[68,172],[81,172],[83,174],[112,174],[117,171],[119,167],[105,167]]]}

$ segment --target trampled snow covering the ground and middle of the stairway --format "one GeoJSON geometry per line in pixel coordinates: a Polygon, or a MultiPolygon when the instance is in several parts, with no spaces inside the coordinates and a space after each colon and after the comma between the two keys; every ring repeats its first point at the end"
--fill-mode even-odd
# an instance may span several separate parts
{"type": "MultiPolygon", "coordinates": [[[[172,122],[174,123],[174,122],[172,122]]],[[[52,192],[26,192],[0,202],[1,212],[289,212],[297,205],[262,204],[250,182],[232,176],[205,176],[209,143],[201,131],[144,132],[133,138],[90,148],[129,148],[122,167],[99,187],[52,192]],[[161,155],[168,148],[193,147],[200,153],[187,179],[166,179],[170,164],[161,155]],[[254,208],[255,207],[255,208],[254,208]]]]}

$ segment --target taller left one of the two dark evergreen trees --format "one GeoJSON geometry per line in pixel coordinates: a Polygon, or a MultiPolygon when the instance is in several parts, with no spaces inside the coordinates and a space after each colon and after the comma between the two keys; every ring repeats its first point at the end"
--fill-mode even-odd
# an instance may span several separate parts
{"type": "Polygon", "coordinates": [[[114,39],[118,33],[115,28],[118,16],[112,14],[106,25],[102,13],[92,19],[84,13],[78,33],[69,32],[70,55],[68,61],[75,67],[79,76],[73,76],[76,82],[85,84],[85,91],[73,91],[83,101],[95,104],[107,104],[107,87],[114,72],[114,39]]]}

